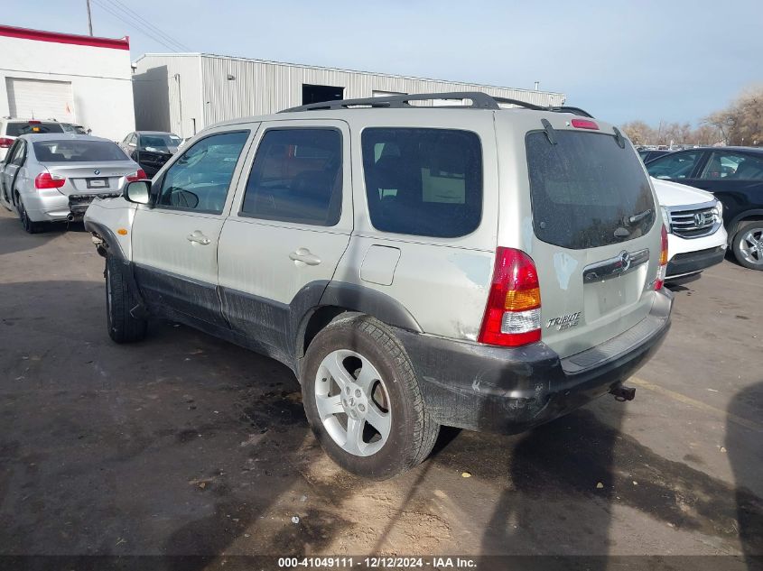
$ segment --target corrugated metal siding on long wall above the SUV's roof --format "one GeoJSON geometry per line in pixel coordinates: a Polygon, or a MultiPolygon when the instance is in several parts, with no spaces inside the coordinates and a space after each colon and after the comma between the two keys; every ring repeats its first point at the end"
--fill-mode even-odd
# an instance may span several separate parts
{"type": "MultiPolygon", "coordinates": [[[[201,56],[205,124],[249,115],[268,115],[302,105],[302,84],[344,87],[344,97],[372,97],[374,90],[405,93],[484,91],[537,105],[563,105],[561,93],[489,87],[430,79],[400,78],[366,72],[311,68],[260,60],[201,56]],[[228,74],[235,79],[228,79],[228,74]],[[209,104],[206,102],[209,101],[209,104]]],[[[432,105],[426,102],[423,105],[432,105]]]]}

